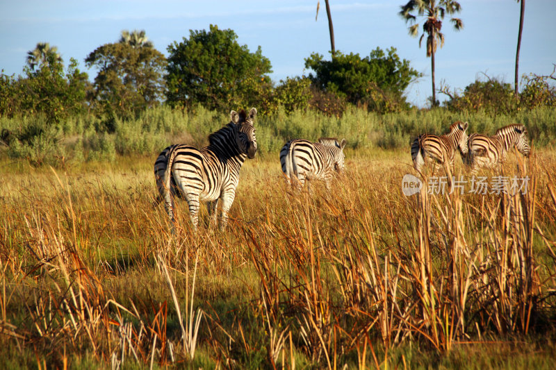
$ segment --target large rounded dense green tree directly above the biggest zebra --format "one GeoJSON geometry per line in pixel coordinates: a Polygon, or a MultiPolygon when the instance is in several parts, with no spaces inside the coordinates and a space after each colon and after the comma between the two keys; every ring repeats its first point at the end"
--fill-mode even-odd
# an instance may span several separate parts
{"type": "Polygon", "coordinates": [[[231,29],[190,30],[189,39],[168,47],[167,101],[173,106],[200,103],[210,109],[256,105],[272,87],[270,60],[261,47],[251,53],[231,29]]]}

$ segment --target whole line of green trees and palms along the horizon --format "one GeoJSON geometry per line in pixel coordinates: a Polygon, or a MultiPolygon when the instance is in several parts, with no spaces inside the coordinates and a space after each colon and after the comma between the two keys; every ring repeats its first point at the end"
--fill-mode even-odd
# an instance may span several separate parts
{"type": "MultiPolygon", "coordinates": [[[[145,31],[124,30],[117,42],[101,45],[85,58],[85,65],[98,71],[93,81],[79,69],[74,58],[65,65],[56,47],[38,43],[28,52],[22,75],[0,75],[0,116],[38,112],[49,121],[59,122],[70,115],[92,113],[108,120],[131,119],[163,104],[184,109],[201,105],[211,110],[257,106],[263,114],[272,114],[279,107],[286,112],[315,109],[338,117],[351,105],[380,113],[411,108],[404,91],[422,75],[408,60],[400,58],[394,47],[377,48],[363,57],[336,50],[326,3],[331,58],[311,54],[304,65],[311,71],[308,76],[273,83],[269,76],[272,65],[263,56],[261,47],[250,51],[238,43],[231,29],[211,25],[208,30],[191,30],[189,37],[167,47],[167,58],[154,48],[145,31]]],[[[521,93],[514,83],[513,97],[511,85],[489,76],[486,81],[468,85],[462,93],[450,92],[445,84],[436,89],[434,53],[444,43],[442,19],[460,11],[457,1],[421,0],[409,1],[399,13],[411,24],[411,35],[418,35],[417,17],[426,19],[419,42],[427,36],[427,56],[431,58],[432,69],[431,106],[438,105],[436,92],[449,97],[444,105],[452,110],[511,112],[553,106],[556,100],[550,84],[553,74],[525,76],[521,93]]],[[[457,30],[463,27],[459,18],[450,21],[457,30]]],[[[518,56],[516,71],[517,60],[518,56]]]]}

